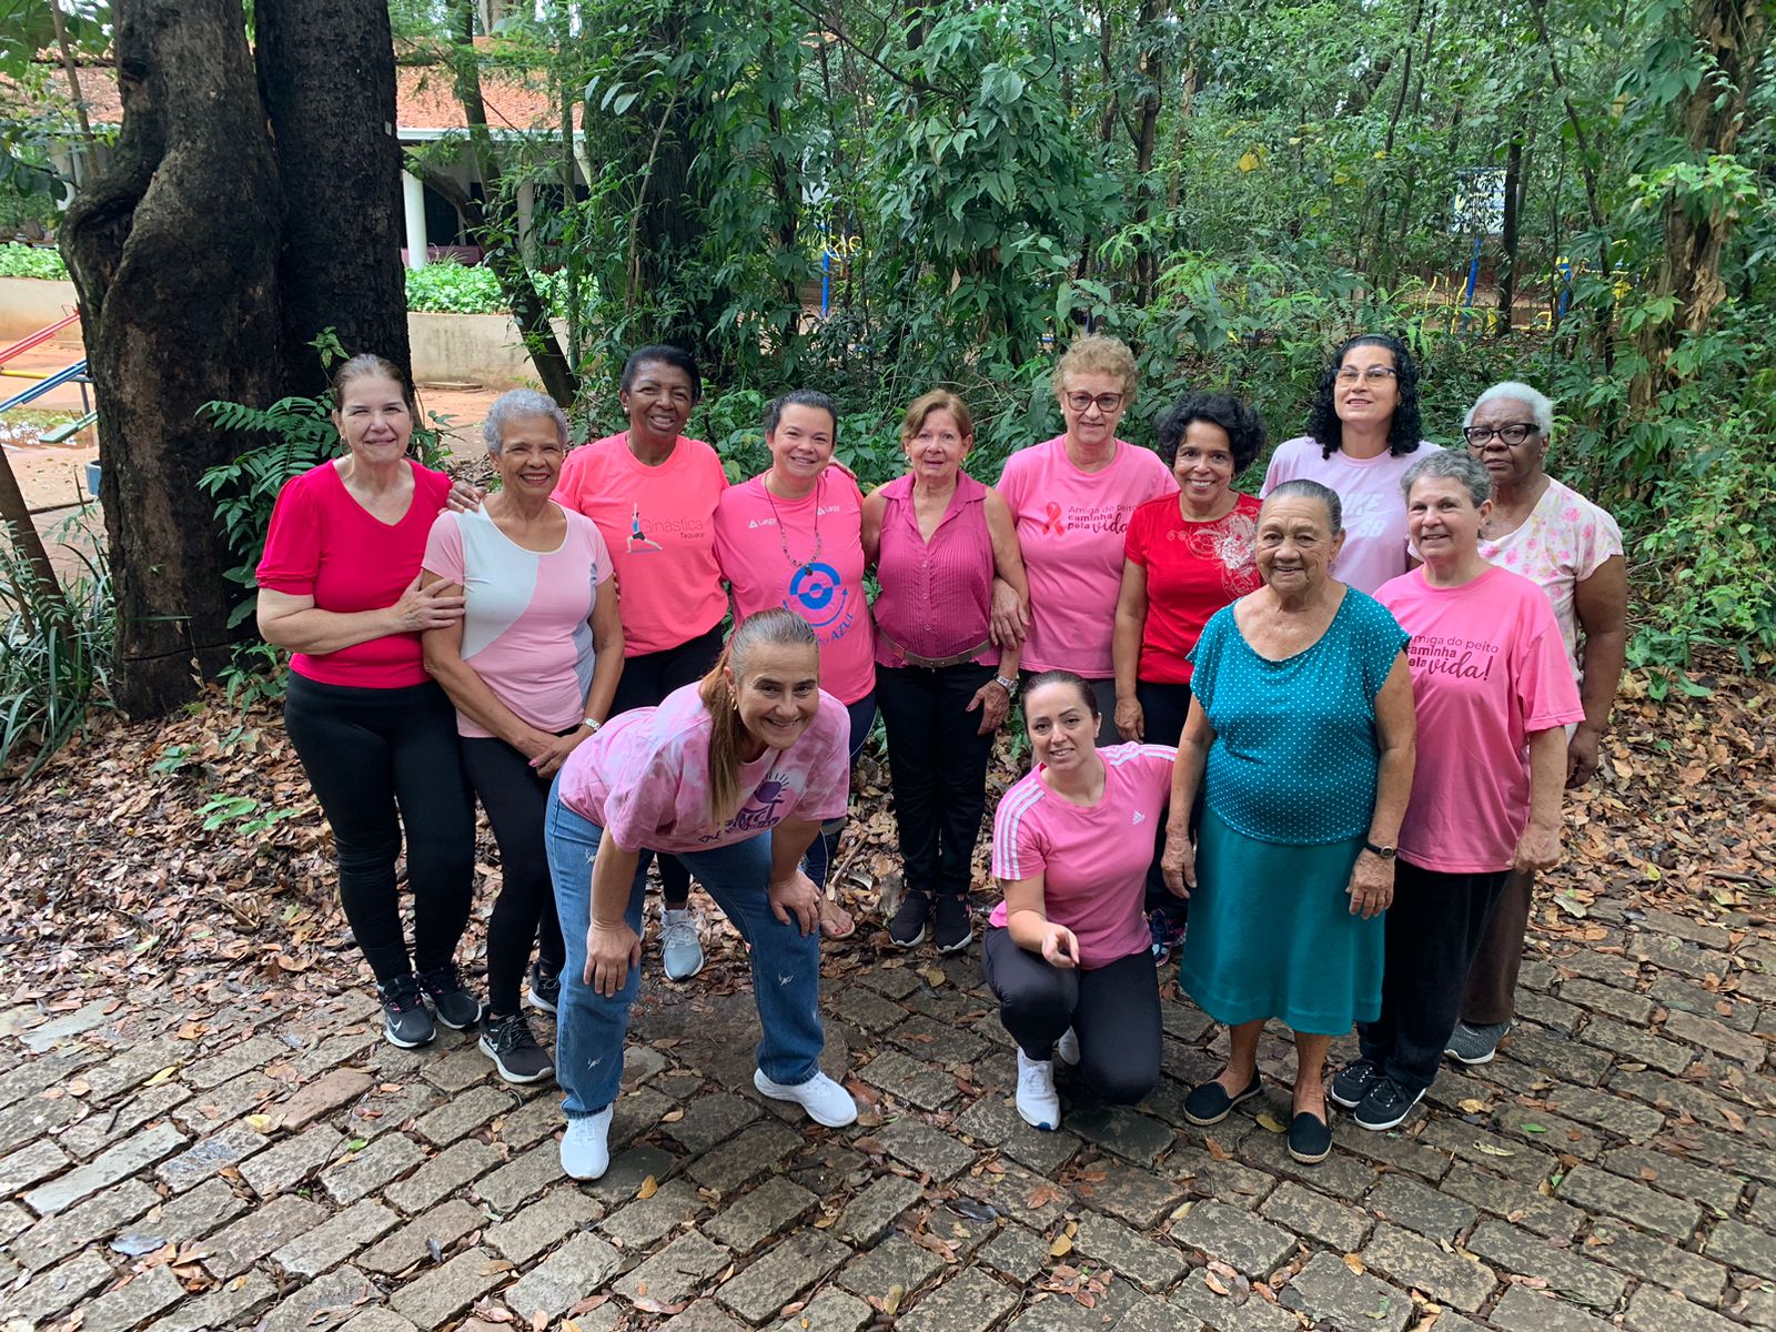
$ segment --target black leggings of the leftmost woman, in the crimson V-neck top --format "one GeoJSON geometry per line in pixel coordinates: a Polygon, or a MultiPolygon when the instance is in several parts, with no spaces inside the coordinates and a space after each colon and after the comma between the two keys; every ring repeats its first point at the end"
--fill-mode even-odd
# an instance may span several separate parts
{"type": "Polygon", "coordinates": [[[451,961],[474,899],[474,803],[449,698],[430,682],[353,689],[291,671],[284,730],[332,826],[339,904],[377,980],[451,961]],[[403,826],[412,961],[394,886],[403,826]]]}

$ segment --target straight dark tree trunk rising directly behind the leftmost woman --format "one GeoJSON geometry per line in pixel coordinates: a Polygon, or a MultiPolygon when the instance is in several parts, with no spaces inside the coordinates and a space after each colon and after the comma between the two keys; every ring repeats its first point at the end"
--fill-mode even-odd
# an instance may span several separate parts
{"type": "Polygon", "coordinates": [[[258,62],[284,192],[279,259],[289,392],[318,394],[309,343],[410,369],[401,274],[401,149],[382,0],[259,0],[258,62]]]}

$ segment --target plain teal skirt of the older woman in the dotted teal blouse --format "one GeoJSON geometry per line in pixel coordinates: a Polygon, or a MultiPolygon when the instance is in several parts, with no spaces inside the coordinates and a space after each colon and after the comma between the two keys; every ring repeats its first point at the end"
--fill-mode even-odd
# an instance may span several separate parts
{"type": "Polygon", "coordinates": [[[1177,963],[1185,993],[1229,1027],[1277,1018],[1343,1035],[1380,1018],[1385,915],[1353,916],[1346,893],[1362,842],[1259,842],[1204,808],[1177,963]]]}

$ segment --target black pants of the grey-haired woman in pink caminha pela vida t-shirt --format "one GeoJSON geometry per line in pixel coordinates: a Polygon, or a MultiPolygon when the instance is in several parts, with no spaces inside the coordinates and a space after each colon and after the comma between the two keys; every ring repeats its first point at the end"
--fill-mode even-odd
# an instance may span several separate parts
{"type": "Polygon", "coordinates": [[[1362,1057],[1407,1094],[1431,1085],[1455,1032],[1467,970],[1487,936],[1487,916],[1510,870],[1439,874],[1396,861],[1387,908],[1382,1016],[1357,1023],[1362,1057]]]}

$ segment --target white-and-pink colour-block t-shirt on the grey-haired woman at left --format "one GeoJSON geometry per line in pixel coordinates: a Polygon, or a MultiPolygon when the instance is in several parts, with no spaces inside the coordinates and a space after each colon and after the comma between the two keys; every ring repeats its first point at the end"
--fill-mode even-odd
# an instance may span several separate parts
{"type": "MultiPolygon", "coordinates": [[[[515,543],[483,510],[442,513],[424,567],[462,584],[462,659],[499,702],[538,730],[577,726],[591,689],[591,607],[599,584],[611,579],[597,524],[568,510],[561,545],[538,552],[515,543]]],[[[458,709],[456,733],[492,732],[458,709]]]]}

